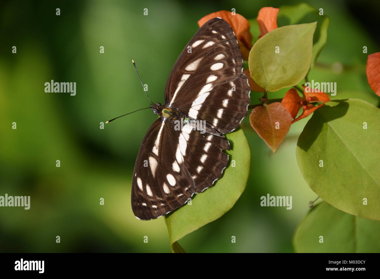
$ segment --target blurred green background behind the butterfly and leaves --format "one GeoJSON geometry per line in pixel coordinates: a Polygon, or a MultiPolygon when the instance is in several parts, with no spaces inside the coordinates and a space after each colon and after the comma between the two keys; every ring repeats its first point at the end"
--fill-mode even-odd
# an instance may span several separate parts
{"type": "MultiPolygon", "coordinates": [[[[131,59],[152,100],[163,102],[171,68],[201,17],[235,8],[253,19],[263,6],[298,3],[3,1],[0,195],[30,195],[31,205],[30,210],[0,208],[0,252],[170,252],[164,219],[139,221],[130,205],[136,156],[156,116],[143,110],[99,129],[101,121],[149,105],[131,59]],[[50,80],[76,82],[76,96],[45,93],[50,80]],[[100,198],[105,205],[99,205],[100,198]]],[[[326,46],[309,78],[337,82],[335,99],[361,98],[377,106],[362,51],[363,46],[368,54],[380,51],[377,1],[307,3],[330,17],[326,46]],[[343,71],[333,71],[334,63],[343,71]]],[[[252,102],[260,96],[252,92],[252,102]]],[[[252,152],[247,188],[222,218],[179,241],[187,252],[293,252],[293,232],[317,197],[295,156],[308,119],[291,126],[276,154],[244,120],[252,152]],[[293,196],[293,209],[261,207],[260,197],[267,193],[293,196]]]]}

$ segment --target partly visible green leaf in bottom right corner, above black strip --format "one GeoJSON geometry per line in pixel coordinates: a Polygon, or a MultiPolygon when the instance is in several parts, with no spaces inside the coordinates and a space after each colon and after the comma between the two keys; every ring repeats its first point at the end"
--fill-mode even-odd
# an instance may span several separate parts
{"type": "Polygon", "coordinates": [[[322,202],[299,224],[293,246],[299,253],[378,253],[379,232],[379,221],[359,218],[322,202]]]}

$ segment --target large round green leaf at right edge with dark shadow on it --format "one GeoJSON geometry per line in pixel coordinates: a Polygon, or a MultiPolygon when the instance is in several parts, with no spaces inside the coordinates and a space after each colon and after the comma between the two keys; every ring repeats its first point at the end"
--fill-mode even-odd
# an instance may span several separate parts
{"type": "Polygon", "coordinates": [[[310,188],[340,210],[380,220],[379,131],[380,109],[366,101],[334,100],[316,110],[296,149],[310,188]]]}

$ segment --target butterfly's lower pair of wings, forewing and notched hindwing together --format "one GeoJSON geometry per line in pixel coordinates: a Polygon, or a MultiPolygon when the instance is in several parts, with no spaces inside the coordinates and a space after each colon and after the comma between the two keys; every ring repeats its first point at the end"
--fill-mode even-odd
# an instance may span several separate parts
{"type": "Polygon", "coordinates": [[[228,165],[230,144],[223,136],[159,118],[150,127],[135,164],[131,203],[135,216],[155,219],[211,187],[228,165]]]}

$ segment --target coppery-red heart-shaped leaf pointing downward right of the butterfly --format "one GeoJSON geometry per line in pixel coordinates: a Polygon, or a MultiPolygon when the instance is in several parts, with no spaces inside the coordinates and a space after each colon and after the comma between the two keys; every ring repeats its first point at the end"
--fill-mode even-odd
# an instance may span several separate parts
{"type": "Polygon", "coordinates": [[[275,153],[289,131],[291,115],[281,103],[274,102],[253,109],[249,121],[252,128],[275,153]]]}

